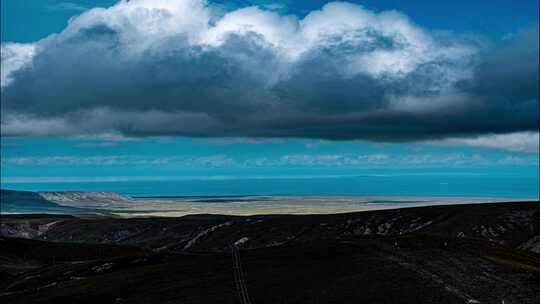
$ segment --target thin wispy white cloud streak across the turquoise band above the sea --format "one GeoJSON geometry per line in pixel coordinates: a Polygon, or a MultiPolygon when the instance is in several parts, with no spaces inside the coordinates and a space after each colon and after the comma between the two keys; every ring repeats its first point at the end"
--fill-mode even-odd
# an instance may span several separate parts
{"type": "Polygon", "coordinates": [[[372,154],[289,154],[277,157],[242,158],[229,155],[209,156],[32,156],[3,157],[2,166],[165,166],[190,169],[208,168],[317,168],[354,169],[378,166],[485,166],[538,165],[532,155],[484,157],[478,153],[372,154]]]}

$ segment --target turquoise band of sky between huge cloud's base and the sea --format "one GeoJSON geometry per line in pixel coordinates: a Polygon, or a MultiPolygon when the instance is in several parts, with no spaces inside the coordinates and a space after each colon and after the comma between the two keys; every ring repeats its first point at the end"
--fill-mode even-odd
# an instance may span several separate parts
{"type": "MultiPolygon", "coordinates": [[[[402,171],[525,174],[538,154],[460,145],[305,139],[43,139],[3,138],[4,182],[88,181],[97,177],[256,177],[354,175],[402,171]],[[428,171],[429,171],[428,170],[428,171]],[[60,179],[62,180],[62,179],[60,179]]],[[[143,178],[144,179],[144,178],[143,178]]],[[[151,179],[151,178],[150,178],[151,179]]]]}

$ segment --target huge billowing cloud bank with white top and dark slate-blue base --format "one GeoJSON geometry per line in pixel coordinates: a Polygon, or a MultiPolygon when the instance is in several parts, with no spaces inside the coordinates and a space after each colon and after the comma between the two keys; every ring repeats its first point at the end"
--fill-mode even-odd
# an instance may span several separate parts
{"type": "Polygon", "coordinates": [[[409,141],[538,132],[538,32],[501,43],[330,3],[300,19],[121,1],[2,44],[2,135],[409,141]]]}

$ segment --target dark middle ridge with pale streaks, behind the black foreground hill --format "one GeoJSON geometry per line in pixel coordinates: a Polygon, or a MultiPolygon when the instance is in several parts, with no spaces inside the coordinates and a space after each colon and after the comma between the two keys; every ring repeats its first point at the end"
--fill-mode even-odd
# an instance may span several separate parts
{"type": "Polygon", "coordinates": [[[58,219],[4,216],[5,236],[136,245],[153,250],[226,251],[317,239],[429,234],[478,239],[540,253],[540,205],[445,205],[333,215],[189,215],[180,218],[58,219]],[[46,227],[46,229],[45,229],[46,227]],[[40,230],[41,229],[41,230],[40,230]]]}

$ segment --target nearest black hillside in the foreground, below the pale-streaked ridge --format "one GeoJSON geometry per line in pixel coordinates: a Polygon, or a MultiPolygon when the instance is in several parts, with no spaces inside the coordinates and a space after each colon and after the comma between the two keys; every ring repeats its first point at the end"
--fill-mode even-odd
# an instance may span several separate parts
{"type": "MultiPolygon", "coordinates": [[[[5,252],[24,252],[21,242],[3,239],[2,247],[10,249],[0,251],[0,258],[5,252]]],[[[32,267],[11,263],[12,269],[20,268],[9,277],[2,274],[3,303],[239,300],[228,253],[140,256],[133,249],[122,252],[105,245],[24,245],[46,255],[32,267]],[[101,250],[109,255],[89,256],[98,251],[93,246],[104,246],[101,250]],[[79,251],[82,248],[89,253],[79,251]],[[62,252],[68,253],[67,259],[50,259],[62,252]],[[78,261],[75,252],[81,253],[78,261]]],[[[538,256],[482,241],[418,235],[312,240],[241,250],[240,256],[253,303],[532,304],[540,299],[538,256]]]]}

